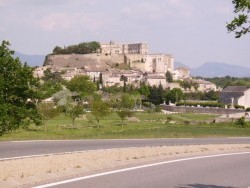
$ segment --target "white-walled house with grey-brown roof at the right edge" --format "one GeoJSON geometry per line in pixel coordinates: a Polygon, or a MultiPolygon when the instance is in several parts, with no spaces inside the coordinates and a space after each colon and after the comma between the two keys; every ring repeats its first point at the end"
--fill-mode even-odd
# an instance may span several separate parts
{"type": "Polygon", "coordinates": [[[232,108],[235,105],[250,108],[250,86],[228,86],[222,90],[219,100],[232,108]]]}

